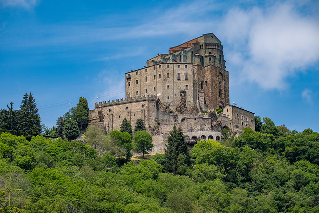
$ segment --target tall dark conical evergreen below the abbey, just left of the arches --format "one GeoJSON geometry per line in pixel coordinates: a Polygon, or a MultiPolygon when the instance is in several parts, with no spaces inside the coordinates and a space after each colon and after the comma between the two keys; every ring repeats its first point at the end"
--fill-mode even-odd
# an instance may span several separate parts
{"type": "Polygon", "coordinates": [[[182,174],[185,167],[190,165],[189,150],[185,143],[182,129],[174,125],[169,132],[165,149],[164,170],[173,174],[182,174]]]}

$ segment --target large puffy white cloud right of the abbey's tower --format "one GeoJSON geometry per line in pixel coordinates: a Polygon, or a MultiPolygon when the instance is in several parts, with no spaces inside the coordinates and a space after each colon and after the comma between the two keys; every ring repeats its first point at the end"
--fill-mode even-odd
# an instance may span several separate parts
{"type": "Polygon", "coordinates": [[[301,16],[294,6],[231,9],[222,26],[230,55],[243,55],[242,81],[264,89],[284,89],[286,79],[319,60],[319,21],[301,16]]]}

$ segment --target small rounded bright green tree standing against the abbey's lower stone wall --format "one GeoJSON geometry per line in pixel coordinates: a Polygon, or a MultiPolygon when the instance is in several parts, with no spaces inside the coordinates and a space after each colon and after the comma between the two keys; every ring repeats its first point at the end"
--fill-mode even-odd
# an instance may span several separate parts
{"type": "Polygon", "coordinates": [[[148,151],[152,151],[152,148],[154,147],[152,135],[145,130],[134,133],[133,142],[135,151],[142,152],[143,158],[144,154],[148,154],[148,151]]]}

